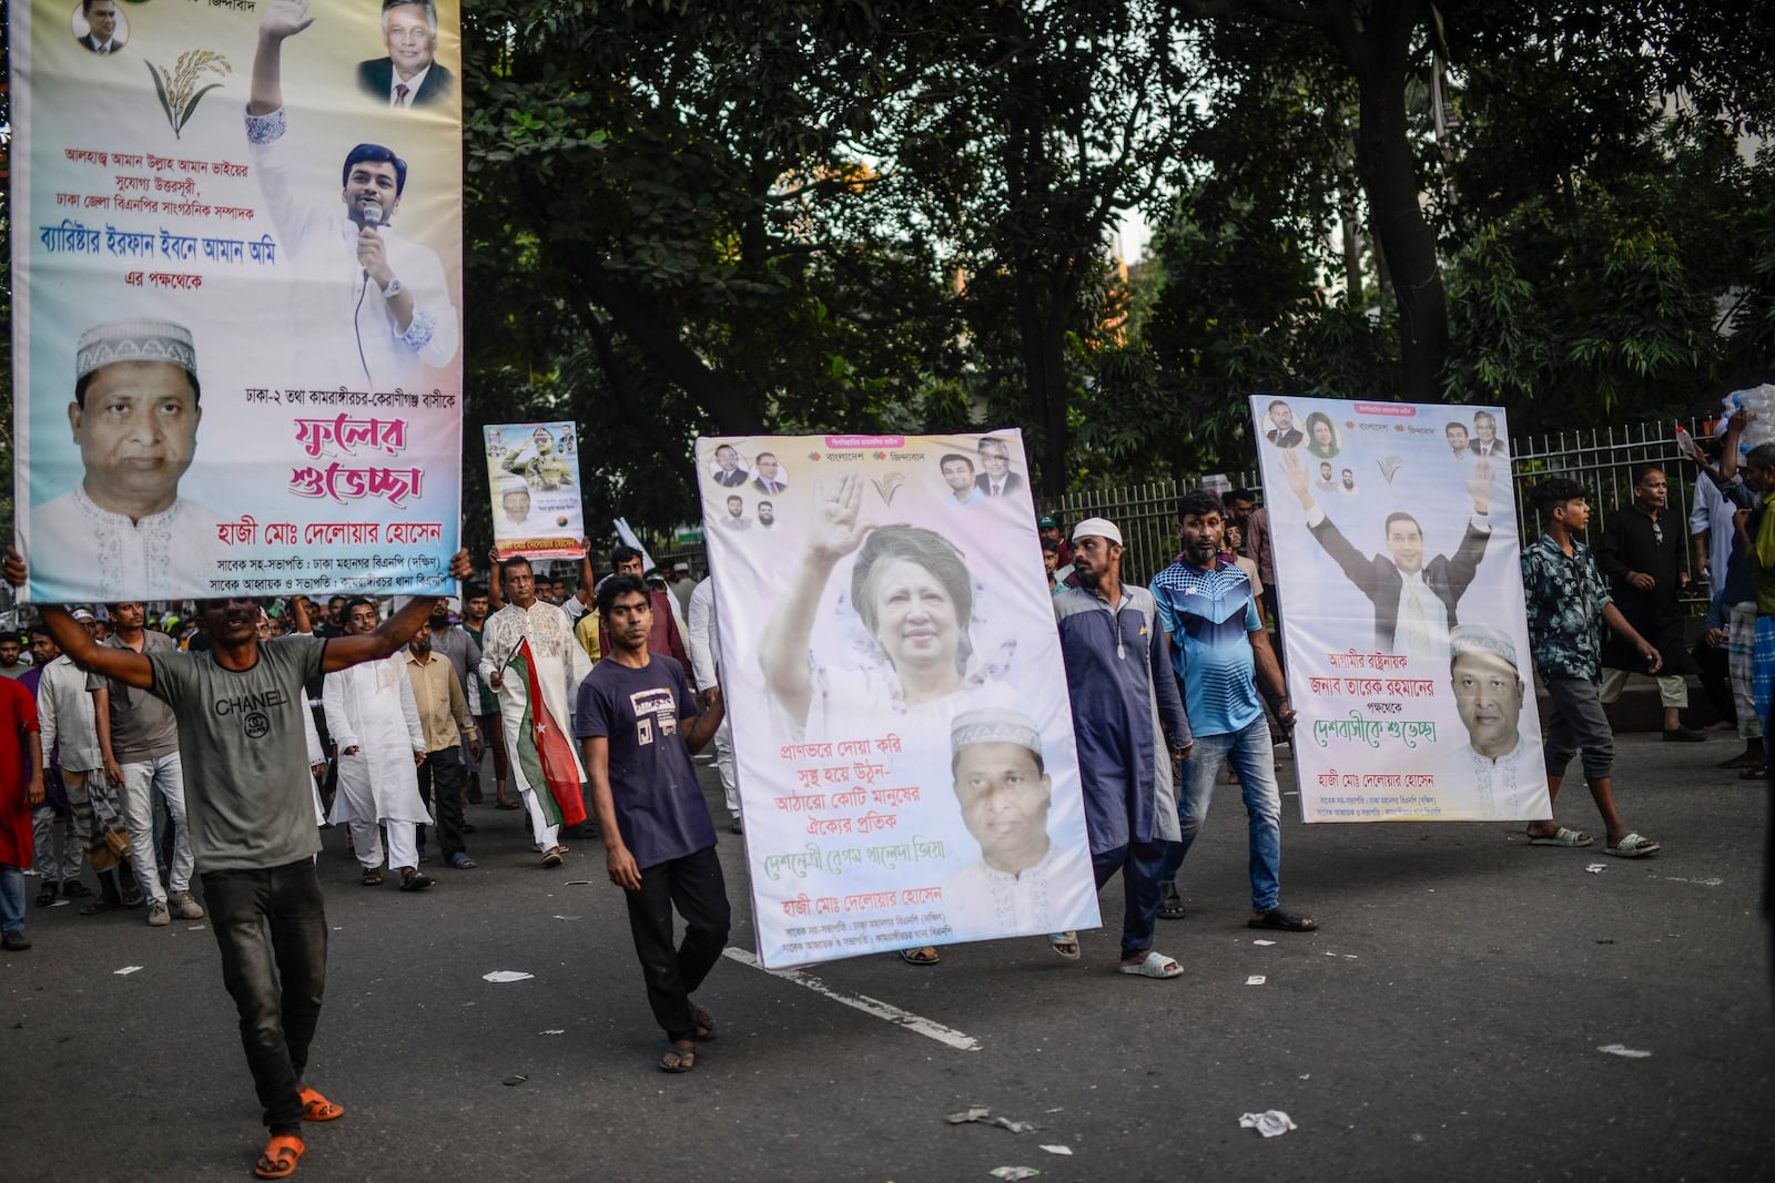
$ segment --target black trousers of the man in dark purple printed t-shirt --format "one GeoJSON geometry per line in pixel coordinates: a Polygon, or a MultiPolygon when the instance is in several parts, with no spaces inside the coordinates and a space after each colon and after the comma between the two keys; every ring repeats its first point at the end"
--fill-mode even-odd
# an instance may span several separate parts
{"type": "Polygon", "coordinates": [[[731,921],[715,848],[648,867],[641,873],[641,890],[623,896],[653,1018],[667,1039],[689,1039],[696,1029],[690,995],[721,960],[731,921]],[[674,906],[685,924],[683,944],[676,949],[671,944],[674,906]]]}

